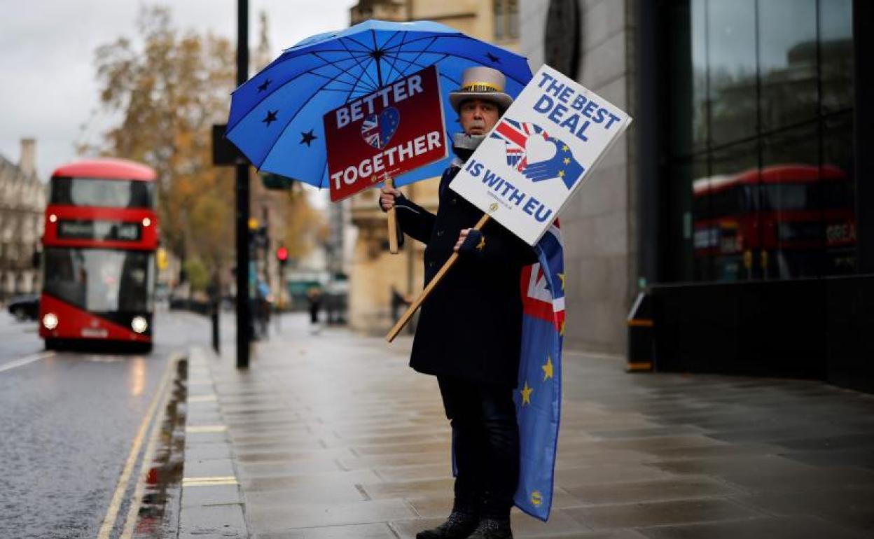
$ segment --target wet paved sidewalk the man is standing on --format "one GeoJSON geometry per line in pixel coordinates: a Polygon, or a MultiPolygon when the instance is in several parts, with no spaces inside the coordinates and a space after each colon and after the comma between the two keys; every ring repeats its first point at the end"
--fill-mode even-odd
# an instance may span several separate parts
{"type": "MultiPolygon", "coordinates": [[[[248,371],[230,342],[189,355],[179,536],[406,538],[440,522],[449,430],[434,378],[406,366],[409,338],[282,324],[248,371]]],[[[874,535],[874,397],[630,375],[605,356],[564,366],[551,518],[514,510],[517,537],[874,535]]]]}

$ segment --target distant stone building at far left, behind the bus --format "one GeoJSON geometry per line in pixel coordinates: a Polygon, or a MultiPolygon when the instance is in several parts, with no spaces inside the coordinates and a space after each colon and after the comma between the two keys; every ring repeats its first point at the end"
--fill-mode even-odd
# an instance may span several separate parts
{"type": "Polygon", "coordinates": [[[22,139],[17,164],[0,155],[0,300],[38,292],[45,183],[36,171],[36,141],[22,139]]]}

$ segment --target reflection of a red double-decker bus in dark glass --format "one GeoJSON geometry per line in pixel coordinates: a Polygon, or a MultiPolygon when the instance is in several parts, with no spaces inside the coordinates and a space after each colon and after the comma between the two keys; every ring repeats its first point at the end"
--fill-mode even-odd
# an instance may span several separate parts
{"type": "Polygon", "coordinates": [[[853,184],[836,166],[787,164],[692,183],[697,259],[711,278],[816,277],[855,266],[853,184]]]}

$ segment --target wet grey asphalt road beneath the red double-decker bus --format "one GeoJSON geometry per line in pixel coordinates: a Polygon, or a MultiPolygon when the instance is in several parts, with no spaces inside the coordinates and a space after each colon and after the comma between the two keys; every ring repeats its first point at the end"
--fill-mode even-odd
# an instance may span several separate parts
{"type": "Polygon", "coordinates": [[[120,476],[162,410],[170,357],[208,343],[198,315],[159,312],[155,323],[151,354],[116,356],[45,352],[35,322],[0,317],[0,537],[97,537],[112,506],[117,535],[139,468],[118,487],[120,476]]]}

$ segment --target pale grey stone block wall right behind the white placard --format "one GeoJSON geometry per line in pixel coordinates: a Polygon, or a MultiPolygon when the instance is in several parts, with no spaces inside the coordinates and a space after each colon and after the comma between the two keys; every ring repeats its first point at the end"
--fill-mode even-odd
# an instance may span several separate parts
{"type": "MultiPolygon", "coordinates": [[[[524,0],[520,53],[577,79],[635,116],[632,2],[524,0]]],[[[635,123],[561,214],[565,240],[565,347],[621,354],[637,290],[635,123]]]]}

